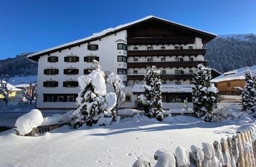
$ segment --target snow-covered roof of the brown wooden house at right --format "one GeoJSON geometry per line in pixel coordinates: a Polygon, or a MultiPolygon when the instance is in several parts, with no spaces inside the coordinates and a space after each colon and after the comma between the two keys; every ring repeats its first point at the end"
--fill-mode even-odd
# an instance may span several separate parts
{"type": "Polygon", "coordinates": [[[251,70],[252,76],[256,76],[256,65],[251,67],[244,67],[239,69],[234,69],[223,73],[221,76],[216,77],[211,80],[211,82],[222,82],[222,81],[230,81],[230,80],[244,80],[244,74],[247,69],[251,70]]]}

